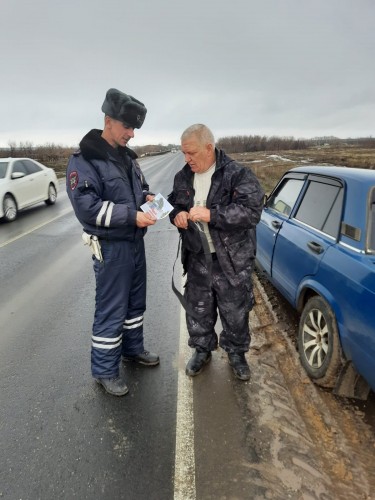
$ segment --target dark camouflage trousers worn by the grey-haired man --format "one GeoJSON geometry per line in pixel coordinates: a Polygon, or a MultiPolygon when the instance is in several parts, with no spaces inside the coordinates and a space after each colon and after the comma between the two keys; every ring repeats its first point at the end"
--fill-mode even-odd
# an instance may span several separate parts
{"type": "Polygon", "coordinates": [[[254,304],[252,283],[234,287],[225,277],[216,254],[212,272],[207,270],[204,254],[190,254],[184,297],[197,317],[186,313],[189,346],[212,351],[218,341],[228,353],[246,352],[250,346],[249,313],[254,304]],[[220,317],[219,339],[215,324],[220,317]]]}

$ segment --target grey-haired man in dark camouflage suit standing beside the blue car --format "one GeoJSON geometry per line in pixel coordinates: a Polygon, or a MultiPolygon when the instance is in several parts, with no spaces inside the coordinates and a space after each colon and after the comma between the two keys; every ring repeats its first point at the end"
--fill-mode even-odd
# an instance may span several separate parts
{"type": "Polygon", "coordinates": [[[218,310],[223,326],[219,345],[235,376],[249,380],[251,275],[264,192],[250,169],[215,148],[205,125],[184,131],[181,150],[186,165],[174,178],[169,202],[174,206],[171,222],[182,237],[186,322],[189,346],[195,348],[186,374],[198,375],[211,360],[218,345],[218,310]]]}

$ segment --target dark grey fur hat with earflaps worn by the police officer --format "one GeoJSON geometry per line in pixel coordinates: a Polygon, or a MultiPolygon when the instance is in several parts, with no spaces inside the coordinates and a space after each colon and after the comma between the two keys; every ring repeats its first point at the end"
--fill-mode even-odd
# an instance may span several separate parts
{"type": "Polygon", "coordinates": [[[102,111],[111,118],[132,128],[141,128],[147,113],[147,109],[142,102],[117,89],[107,91],[102,111]]]}

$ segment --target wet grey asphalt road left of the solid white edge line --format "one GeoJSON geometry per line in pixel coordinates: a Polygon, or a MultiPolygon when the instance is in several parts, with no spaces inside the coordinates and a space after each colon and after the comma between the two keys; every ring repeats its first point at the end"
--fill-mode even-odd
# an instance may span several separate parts
{"type": "MultiPolygon", "coordinates": [[[[175,155],[150,184],[168,194],[175,155]],[[163,173],[164,172],[164,173],[163,173]]],[[[172,297],[177,233],[146,236],[145,337],[156,368],[126,367],[130,394],[107,396],[90,375],[94,280],[65,188],[0,225],[0,497],[172,498],[180,310],[172,297]],[[173,307],[171,307],[173,304],[173,307]]]]}

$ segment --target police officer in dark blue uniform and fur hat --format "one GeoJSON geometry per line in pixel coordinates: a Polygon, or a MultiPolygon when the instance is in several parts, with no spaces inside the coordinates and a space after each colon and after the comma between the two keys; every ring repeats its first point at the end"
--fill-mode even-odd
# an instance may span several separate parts
{"type": "Polygon", "coordinates": [[[102,105],[104,129],[93,129],[67,167],[67,192],[77,219],[90,241],[96,279],[91,369],[94,379],[112,395],[128,392],[121,358],[146,366],[159,357],[144,348],[146,259],[143,237],[155,220],[140,210],[153,199],[149,186],[127,147],[141,128],[147,109],[134,97],[109,89],[102,105]]]}

